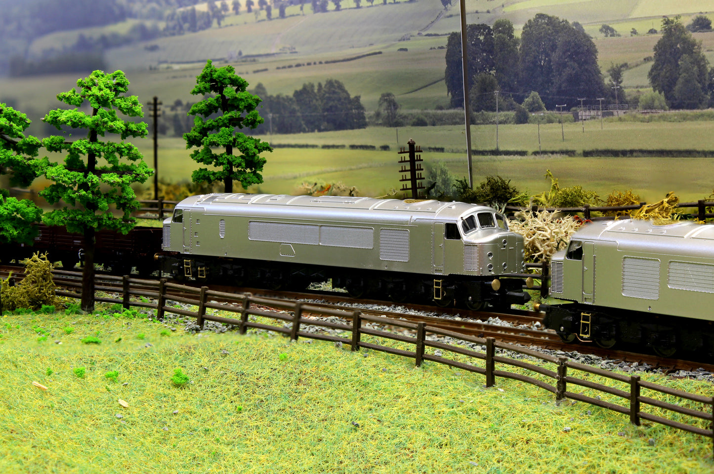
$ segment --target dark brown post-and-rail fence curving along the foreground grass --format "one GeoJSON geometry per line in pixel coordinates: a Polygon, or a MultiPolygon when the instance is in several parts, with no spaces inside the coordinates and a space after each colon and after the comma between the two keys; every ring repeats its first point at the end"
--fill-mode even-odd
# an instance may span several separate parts
{"type": "MultiPolygon", "coordinates": [[[[58,284],[74,288],[79,288],[81,286],[81,283],[79,283],[79,278],[81,278],[80,273],[69,271],[54,271],[54,273],[57,277],[56,283],[58,284]]],[[[293,341],[296,341],[298,338],[312,338],[323,341],[341,342],[349,345],[352,351],[359,351],[360,348],[368,348],[373,349],[374,351],[382,351],[395,354],[397,356],[413,358],[415,359],[416,366],[421,366],[425,360],[428,360],[434,363],[441,363],[454,368],[483,375],[486,379],[487,387],[495,385],[497,377],[519,380],[523,383],[535,385],[538,388],[542,388],[543,390],[555,394],[556,403],[561,403],[566,398],[569,398],[570,400],[578,400],[583,403],[589,403],[590,405],[599,406],[607,410],[622,413],[623,415],[628,415],[630,417],[630,423],[635,425],[640,425],[642,420],[647,420],[652,423],[659,423],[678,430],[685,430],[690,433],[705,436],[706,438],[712,438],[714,448],[714,397],[687,393],[681,390],[664,387],[663,385],[646,382],[640,380],[640,375],[628,376],[613,373],[608,370],[603,370],[601,368],[569,360],[563,356],[550,356],[548,354],[532,351],[528,348],[514,346],[513,344],[500,343],[493,338],[466,336],[453,331],[448,331],[446,329],[428,326],[426,323],[409,323],[407,321],[400,321],[383,316],[364,315],[358,310],[349,310],[338,307],[322,308],[311,306],[309,303],[299,301],[284,301],[282,303],[276,303],[275,301],[268,301],[263,298],[252,296],[249,293],[234,294],[212,291],[206,286],[195,288],[191,286],[177,285],[175,283],[168,283],[165,279],[161,279],[161,281],[156,282],[152,280],[131,278],[130,276],[119,277],[103,275],[97,276],[96,285],[98,290],[101,288],[101,291],[119,293],[120,296],[114,298],[95,296],[95,301],[119,303],[126,309],[131,306],[154,308],[157,311],[157,317],[159,319],[163,319],[166,313],[174,313],[181,316],[196,318],[196,324],[201,327],[203,327],[203,323],[205,321],[216,321],[218,323],[238,326],[238,331],[241,334],[245,334],[249,328],[263,329],[266,331],[281,333],[288,336],[293,341]],[[136,288],[136,286],[141,288],[136,288]],[[147,290],[146,288],[150,289],[147,290]],[[179,291],[182,294],[180,296],[169,294],[169,290],[179,291]],[[156,303],[146,303],[144,301],[134,301],[131,299],[132,297],[139,296],[156,298],[156,303]],[[211,298],[225,299],[233,304],[226,305],[211,303],[211,298]],[[168,301],[186,303],[196,306],[197,309],[196,311],[189,311],[184,308],[176,308],[168,305],[168,301]],[[256,304],[265,306],[269,305],[272,307],[277,306],[278,308],[290,311],[292,314],[277,313],[275,311],[265,311],[253,308],[253,305],[256,304]],[[239,318],[224,318],[222,316],[209,314],[206,313],[206,308],[236,313],[236,315],[239,315],[239,318]],[[321,316],[337,316],[338,318],[351,320],[351,323],[316,321],[314,319],[303,318],[303,313],[312,313],[321,316]],[[257,321],[251,321],[249,316],[261,316],[263,318],[268,318],[278,323],[282,323],[282,325],[274,326],[272,324],[258,323],[257,321]],[[404,336],[401,334],[391,333],[389,331],[383,331],[378,328],[363,326],[363,323],[365,322],[376,323],[381,326],[408,329],[416,331],[416,333],[415,336],[404,336]],[[300,330],[303,324],[341,330],[351,334],[349,337],[346,337],[308,333],[300,330]],[[389,341],[413,345],[414,349],[412,351],[392,346],[384,346],[382,343],[362,341],[363,336],[372,336],[373,338],[379,338],[380,340],[387,339],[389,341]],[[455,338],[459,341],[459,343],[463,342],[462,346],[466,345],[466,343],[473,343],[478,346],[483,346],[483,352],[477,351],[475,348],[466,348],[449,343],[443,343],[441,341],[433,341],[429,339],[428,336],[448,336],[450,338],[455,338]],[[465,362],[463,360],[456,360],[455,358],[436,355],[436,352],[433,354],[426,353],[426,348],[448,351],[449,353],[466,356],[470,359],[468,362],[465,362]],[[506,355],[496,355],[496,349],[517,353],[521,356],[531,356],[532,358],[542,360],[545,363],[555,365],[555,367],[553,369],[545,368],[526,360],[511,358],[506,355]],[[472,359],[482,361],[483,365],[473,365],[473,363],[471,363],[472,359]],[[508,370],[501,370],[501,368],[497,369],[497,364],[498,367],[506,365],[521,370],[527,370],[529,375],[511,372],[508,370]],[[603,378],[608,378],[625,385],[627,390],[611,387],[592,380],[585,380],[582,375],[578,377],[576,374],[573,374],[576,370],[581,373],[590,373],[593,375],[599,375],[603,378]],[[537,378],[538,375],[540,375],[541,378],[537,378]],[[543,380],[543,378],[545,378],[545,380],[543,380]],[[599,398],[595,398],[593,396],[584,395],[582,392],[576,393],[570,389],[573,385],[595,390],[598,393],[605,393],[612,397],[621,398],[623,399],[623,403],[620,404],[607,400],[600,400],[599,398]],[[657,398],[653,398],[653,396],[643,395],[643,390],[650,390],[650,392],[653,392],[650,393],[650,395],[653,396],[663,394],[668,395],[669,397],[678,398],[681,401],[680,403],[670,403],[670,401],[658,400],[657,398]],[[697,410],[681,406],[682,403],[687,402],[704,405],[704,408],[697,410]],[[678,420],[671,420],[669,418],[665,418],[664,416],[647,413],[643,411],[643,405],[659,408],[660,410],[666,410],[667,412],[678,413],[679,415],[705,420],[708,422],[708,428],[700,426],[701,423],[698,426],[683,423],[678,420]]],[[[74,293],[72,291],[56,291],[56,294],[58,296],[66,296],[69,298],[81,297],[79,293],[74,293]]]]}

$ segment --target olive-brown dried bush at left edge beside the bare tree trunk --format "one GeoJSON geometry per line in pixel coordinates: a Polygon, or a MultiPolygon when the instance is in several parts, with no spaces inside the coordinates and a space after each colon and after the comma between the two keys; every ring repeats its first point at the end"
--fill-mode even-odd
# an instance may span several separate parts
{"type": "Polygon", "coordinates": [[[37,311],[42,306],[60,306],[61,298],[55,296],[56,288],[52,280],[52,264],[47,254],[35,253],[25,263],[25,278],[16,286],[11,286],[12,275],[0,280],[0,297],[3,309],[14,311],[17,308],[37,311]]]}

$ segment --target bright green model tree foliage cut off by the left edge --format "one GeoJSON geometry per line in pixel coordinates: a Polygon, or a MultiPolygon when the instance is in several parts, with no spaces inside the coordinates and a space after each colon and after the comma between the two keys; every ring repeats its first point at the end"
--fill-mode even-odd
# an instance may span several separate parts
{"type": "MultiPolygon", "coordinates": [[[[0,173],[9,175],[11,186],[29,186],[46,164],[46,160],[37,158],[39,139],[24,134],[29,125],[25,114],[0,104],[0,173]]],[[[9,196],[5,188],[0,188],[0,243],[31,243],[37,235],[34,223],[40,220],[42,210],[29,199],[9,196]]]]}

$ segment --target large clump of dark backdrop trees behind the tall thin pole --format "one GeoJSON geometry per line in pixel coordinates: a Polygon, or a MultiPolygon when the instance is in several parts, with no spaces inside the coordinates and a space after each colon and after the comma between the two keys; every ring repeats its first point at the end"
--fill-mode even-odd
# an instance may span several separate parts
{"type": "MultiPolygon", "coordinates": [[[[513,24],[499,19],[493,27],[468,25],[468,77],[474,110],[495,110],[496,91],[508,108],[535,91],[548,109],[575,106],[577,99],[611,96],[605,87],[598,50],[583,27],[557,16],[536,14],[523,26],[521,38],[513,24]],[[517,100],[513,100],[513,99],[517,100]]],[[[446,89],[451,106],[463,107],[461,36],[452,33],[446,46],[446,89]]]]}

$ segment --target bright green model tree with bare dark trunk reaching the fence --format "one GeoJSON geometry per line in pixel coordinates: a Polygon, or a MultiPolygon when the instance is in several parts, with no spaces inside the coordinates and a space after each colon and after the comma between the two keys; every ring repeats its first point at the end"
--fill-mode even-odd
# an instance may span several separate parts
{"type": "Polygon", "coordinates": [[[64,163],[51,163],[45,176],[53,184],[40,192],[47,202],[62,201],[64,207],[46,213],[49,225],[66,226],[67,231],[84,234],[86,242],[82,275],[81,308],[94,310],[94,233],[107,228],[127,233],[136,219],[131,211],[139,208],[132,183],[144,183],[153,171],[146,166],[136,146],[126,138],[146,136],[146,123],[124,121],[117,111],[129,117],[141,117],[136,96],[126,96],[129,81],[122,71],[105,74],[94,71],[77,81],[77,89],[57,95],[59,101],[74,109],[56,109],[44,121],[62,130],[62,126],[84,129],[86,138],[66,141],[64,135],[45,138],[47,151],[65,152],[64,163]],[[91,114],[81,107],[88,103],[91,114]],[[120,141],[100,140],[114,133],[120,141]],[[100,161],[101,160],[101,161],[100,161]],[[114,216],[114,209],[122,213],[114,216]]]}

